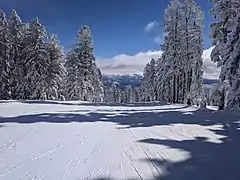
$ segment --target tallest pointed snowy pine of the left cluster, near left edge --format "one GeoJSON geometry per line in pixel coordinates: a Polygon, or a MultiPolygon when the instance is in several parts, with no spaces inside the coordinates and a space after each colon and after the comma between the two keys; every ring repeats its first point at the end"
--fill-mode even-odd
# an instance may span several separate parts
{"type": "Polygon", "coordinates": [[[9,64],[10,64],[10,93],[11,98],[20,99],[23,96],[23,77],[24,77],[24,62],[21,57],[22,49],[24,48],[23,39],[26,24],[22,23],[20,17],[15,10],[12,11],[8,19],[9,31],[9,64]]]}

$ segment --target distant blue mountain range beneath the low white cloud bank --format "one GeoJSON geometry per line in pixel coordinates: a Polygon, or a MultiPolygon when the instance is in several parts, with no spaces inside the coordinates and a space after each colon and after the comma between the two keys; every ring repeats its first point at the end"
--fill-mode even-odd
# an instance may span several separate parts
{"type": "MultiPolygon", "coordinates": [[[[142,75],[104,75],[103,82],[105,86],[109,86],[113,83],[119,84],[120,88],[125,88],[127,86],[140,87],[142,80],[142,75]]],[[[218,79],[204,79],[205,88],[212,88],[213,86],[219,84],[218,79]]]]}

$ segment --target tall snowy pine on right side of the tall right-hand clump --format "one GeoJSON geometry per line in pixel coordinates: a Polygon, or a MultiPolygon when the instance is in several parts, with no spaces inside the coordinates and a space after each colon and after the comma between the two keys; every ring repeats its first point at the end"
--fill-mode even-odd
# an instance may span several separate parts
{"type": "MultiPolygon", "coordinates": [[[[187,66],[184,67],[185,75],[190,74],[191,77],[187,78],[187,84],[189,85],[190,99],[194,104],[204,105],[204,89],[203,89],[203,13],[200,7],[194,0],[185,0],[185,19],[186,19],[186,30],[185,34],[185,63],[187,66]],[[187,73],[186,73],[187,72],[187,73]]],[[[183,42],[184,43],[184,42],[183,42]]],[[[186,76],[185,76],[186,77],[186,76]]],[[[184,80],[182,81],[185,82],[184,80]]],[[[185,83],[184,83],[185,84],[185,83]]],[[[185,94],[185,93],[184,93],[185,94]]],[[[186,98],[185,98],[186,101],[186,98]]]]}

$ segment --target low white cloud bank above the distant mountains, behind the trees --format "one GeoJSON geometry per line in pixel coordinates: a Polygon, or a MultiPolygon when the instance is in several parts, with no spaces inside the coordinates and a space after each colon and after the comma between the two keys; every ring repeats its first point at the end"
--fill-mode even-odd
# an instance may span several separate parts
{"type": "MultiPolygon", "coordinates": [[[[218,79],[220,70],[211,62],[211,51],[212,48],[209,48],[203,53],[204,78],[218,79]]],[[[161,54],[162,51],[140,52],[135,55],[120,54],[109,59],[97,58],[97,65],[103,74],[107,75],[142,74],[145,65],[152,58],[159,58],[161,54]]]]}

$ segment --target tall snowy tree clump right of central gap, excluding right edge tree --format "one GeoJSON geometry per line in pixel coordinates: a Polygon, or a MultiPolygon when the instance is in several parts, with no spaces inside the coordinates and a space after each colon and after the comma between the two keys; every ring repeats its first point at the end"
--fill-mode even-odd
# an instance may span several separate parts
{"type": "Polygon", "coordinates": [[[172,0],[165,11],[163,54],[144,69],[144,101],[204,105],[203,13],[194,0],[172,0]]]}

